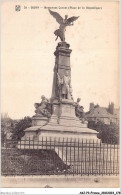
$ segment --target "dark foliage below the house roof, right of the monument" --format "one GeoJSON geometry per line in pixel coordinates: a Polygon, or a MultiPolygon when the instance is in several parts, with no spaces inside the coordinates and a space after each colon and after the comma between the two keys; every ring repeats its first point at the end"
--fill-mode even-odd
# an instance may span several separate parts
{"type": "Polygon", "coordinates": [[[119,126],[111,123],[110,125],[104,124],[101,121],[95,123],[94,121],[88,122],[88,127],[99,132],[98,138],[103,143],[119,144],[119,126]]]}

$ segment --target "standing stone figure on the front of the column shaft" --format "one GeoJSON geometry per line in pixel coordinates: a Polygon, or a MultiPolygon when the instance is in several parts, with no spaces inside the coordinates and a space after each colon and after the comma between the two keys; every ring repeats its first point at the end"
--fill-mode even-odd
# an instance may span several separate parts
{"type": "Polygon", "coordinates": [[[73,100],[71,77],[69,76],[68,72],[66,72],[62,78],[57,73],[57,83],[59,90],[59,99],[73,100]]]}

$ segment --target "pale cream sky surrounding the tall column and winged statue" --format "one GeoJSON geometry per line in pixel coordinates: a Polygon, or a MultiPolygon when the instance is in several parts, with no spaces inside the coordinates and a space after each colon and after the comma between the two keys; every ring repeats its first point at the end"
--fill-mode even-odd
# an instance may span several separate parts
{"type": "Polygon", "coordinates": [[[60,41],[53,32],[59,24],[45,6],[56,7],[51,10],[62,17],[80,16],[66,30],[74,101],[80,97],[85,112],[90,102],[119,107],[119,2],[6,1],[1,6],[1,112],[13,119],[33,116],[41,95],[51,97],[53,53],[60,41]]]}

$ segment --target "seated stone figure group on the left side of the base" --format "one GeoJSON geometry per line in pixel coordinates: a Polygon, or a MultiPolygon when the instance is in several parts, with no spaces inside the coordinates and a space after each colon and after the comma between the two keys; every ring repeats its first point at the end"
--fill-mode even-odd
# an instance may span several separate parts
{"type": "Polygon", "coordinates": [[[34,104],[36,108],[35,110],[36,116],[45,116],[49,118],[51,116],[51,104],[44,95],[41,96],[41,99],[42,99],[41,103],[34,104]]]}

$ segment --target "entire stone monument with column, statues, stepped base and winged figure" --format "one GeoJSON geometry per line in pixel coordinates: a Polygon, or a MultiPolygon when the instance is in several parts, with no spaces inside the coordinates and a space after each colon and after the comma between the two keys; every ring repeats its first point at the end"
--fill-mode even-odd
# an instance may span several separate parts
{"type": "Polygon", "coordinates": [[[42,136],[67,137],[79,139],[95,139],[97,132],[87,128],[83,107],[79,105],[80,98],[74,102],[71,85],[70,55],[72,50],[65,41],[67,26],[72,26],[79,17],[65,16],[63,19],[57,12],[49,10],[50,14],[60,24],[54,34],[60,38],[55,55],[52,96],[48,100],[42,96],[41,103],[35,103],[35,115],[32,117],[32,127],[25,130],[22,138],[39,140],[42,136]]]}

